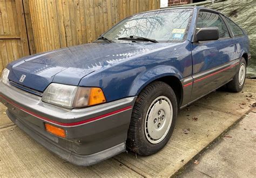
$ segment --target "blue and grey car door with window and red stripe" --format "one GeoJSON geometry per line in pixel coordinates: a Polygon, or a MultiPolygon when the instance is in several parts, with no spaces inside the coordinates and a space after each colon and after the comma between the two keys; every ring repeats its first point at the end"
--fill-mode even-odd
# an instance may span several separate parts
{"type": "Polygon", "coordinates": [[[215,12],[199,11],[196,31],[200,28],[218,28],[219,39],[194,42],[191,45],[193,61],[192,98],[195,100],[233,78],[235,47],[223,18],[215,12]]]}

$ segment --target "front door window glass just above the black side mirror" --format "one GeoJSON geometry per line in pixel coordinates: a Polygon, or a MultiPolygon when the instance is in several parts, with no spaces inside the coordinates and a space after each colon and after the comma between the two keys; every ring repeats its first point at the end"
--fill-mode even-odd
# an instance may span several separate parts
{"type": "Polygon", "coordinates": [[[217,27],[219,29],[219,39],[230,37],[226,24],[217,13],[200,11],[197,20],[197,28],[213,27],[217,27]]]}

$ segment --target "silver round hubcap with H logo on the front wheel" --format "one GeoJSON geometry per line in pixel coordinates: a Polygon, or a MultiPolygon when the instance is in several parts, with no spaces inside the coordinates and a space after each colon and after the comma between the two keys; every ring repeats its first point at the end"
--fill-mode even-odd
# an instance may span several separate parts
{"type": "Polygon", "coordinates": [[[160,96],[150,105],[145,119],[145,134],[151,143],[162,141],[172,124],[172,104],[169,98],[160,96]]]}

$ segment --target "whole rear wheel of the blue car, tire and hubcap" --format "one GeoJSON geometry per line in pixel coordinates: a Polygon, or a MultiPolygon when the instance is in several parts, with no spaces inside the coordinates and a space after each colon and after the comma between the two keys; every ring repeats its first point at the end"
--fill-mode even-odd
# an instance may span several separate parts
{"type": "Polygon", "coordinates": [[[235,74],[233,80],[231,80],[227,84],[227,89],[230,92],[240,92],[245,85],[245,77],[246,77],[246,61],[245,58],[242,57],[239,63],[239,70],[235,74]]]}

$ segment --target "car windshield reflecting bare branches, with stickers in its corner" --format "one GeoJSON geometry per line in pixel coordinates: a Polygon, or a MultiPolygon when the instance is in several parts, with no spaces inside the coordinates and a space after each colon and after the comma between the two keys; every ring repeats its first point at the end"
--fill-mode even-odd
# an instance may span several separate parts
{"type": "Polygon", "coordinates": [[[193,9],[170,9],[140,13],[113,26],[103,36],[114,43],[132,43],[118,40],[130,36],[155,39],[158,42],[180,42],[186,37],[193,9]]]}

